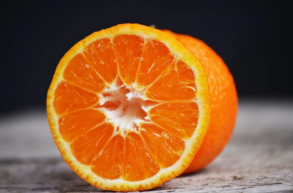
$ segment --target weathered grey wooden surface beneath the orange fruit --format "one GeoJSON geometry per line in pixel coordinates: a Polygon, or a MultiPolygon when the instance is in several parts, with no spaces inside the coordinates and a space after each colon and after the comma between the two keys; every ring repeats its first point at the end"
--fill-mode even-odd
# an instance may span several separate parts
{"type": "MultiPolygon", "coordinates": [[[[55,147],[46,114],[0,118],[0,193],[109,192],[78,177],[55,147]]],[[[206,169],[153,193],[293,192],[293,102],[242,102],[233,137],[206,169]]]]}

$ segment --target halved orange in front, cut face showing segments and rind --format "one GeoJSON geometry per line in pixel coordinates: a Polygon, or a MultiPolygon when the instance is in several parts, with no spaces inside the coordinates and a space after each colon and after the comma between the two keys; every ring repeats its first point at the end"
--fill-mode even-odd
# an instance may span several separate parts
{"type": "Polygon", "coordinates": [[[172,35],[120,24],[60,60],[47,93],[54,141],[90,184],[140,191],[180,175],[210,120],[208,78],[172,35]]]}

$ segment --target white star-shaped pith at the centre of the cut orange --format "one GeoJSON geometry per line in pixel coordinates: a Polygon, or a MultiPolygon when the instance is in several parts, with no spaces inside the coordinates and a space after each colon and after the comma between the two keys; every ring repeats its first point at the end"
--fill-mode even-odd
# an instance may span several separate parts
{"type": "Polygon", "coordinates": [[[107,85],[107,88],[99,94],[99,97],[100,105],[104,105],[106,102],[121,102],[119,107],[114,110],[106,107],[99,109],[105,114],[105,122],[113,124],[113,135],[119,133],[125,137],[126,133],[130,131],[139,133],[141,123],[151,123],[148,110],[154,105],[147,104],[149,100],[145,97],[145,93],[141,89],[136,88],[135,83],[131,86],[127,86],[126,84],[117,86],[114,82],[111,85],[107,85]],[[120,91],[121,88],[130,91],[124,93],[120,91]],[[111,96],[104,96],[105,93],[110,93],[111,96]],[[139,112],[141,110],[145,112],[145,115],[139,112]]]}

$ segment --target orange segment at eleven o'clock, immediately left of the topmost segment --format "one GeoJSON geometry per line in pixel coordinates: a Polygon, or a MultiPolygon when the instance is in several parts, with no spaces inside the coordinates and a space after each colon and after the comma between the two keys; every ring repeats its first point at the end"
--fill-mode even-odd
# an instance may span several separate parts
{"type": "Polygon", "coordinates": [[[94,41],[84,50],[85,59],[101,77],[112,83],[117,76],[117,65],[113,43],[109,38],[94,41]]]}

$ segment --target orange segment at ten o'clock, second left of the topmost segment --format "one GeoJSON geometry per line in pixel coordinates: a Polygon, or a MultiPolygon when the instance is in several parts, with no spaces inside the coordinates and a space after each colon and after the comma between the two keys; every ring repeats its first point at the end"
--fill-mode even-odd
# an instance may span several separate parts
{"type": "Polygon", "coordinates": [[[105,87],[105,82],[99,77],[97,72],[89,66],[81,53],[71,59],[64,70],[63,77],[66,82],[93,92],[101,92],[105,87]]]}

